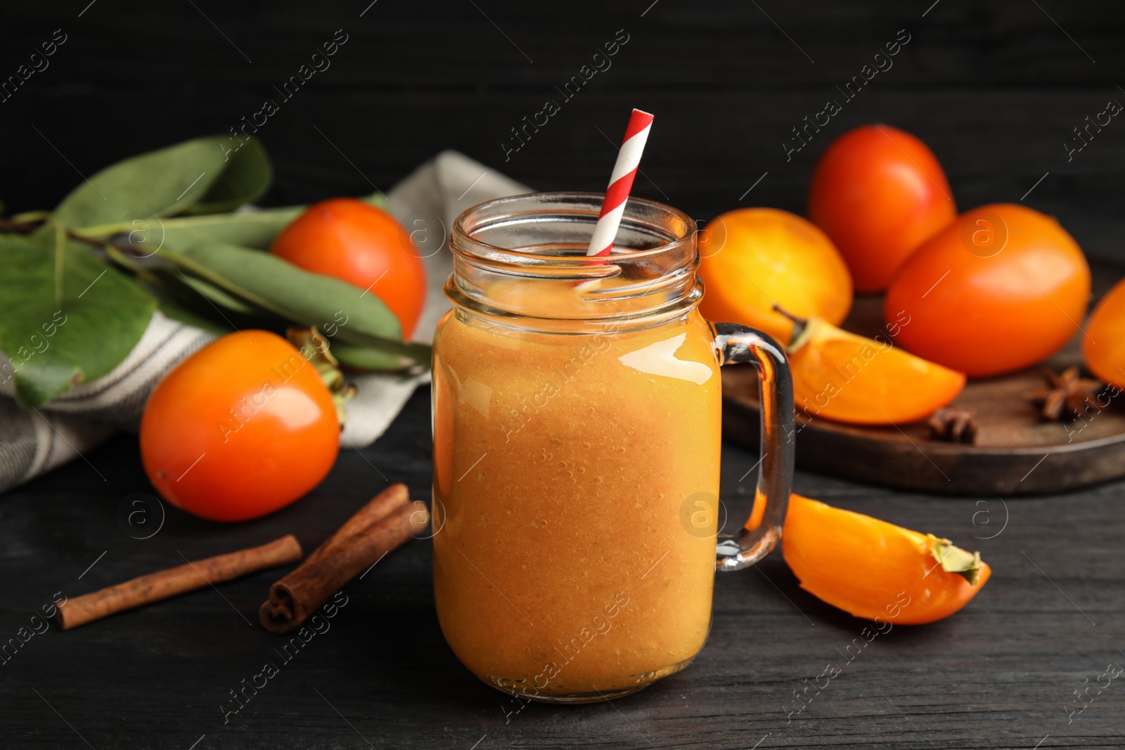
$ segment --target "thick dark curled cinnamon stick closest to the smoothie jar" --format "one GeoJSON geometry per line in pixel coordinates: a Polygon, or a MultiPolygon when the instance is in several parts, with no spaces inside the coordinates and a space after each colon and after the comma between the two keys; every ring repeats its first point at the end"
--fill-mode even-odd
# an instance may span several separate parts
{"type": "MultiPolygon", "coordinates": [[[[420,504],[421,505],[421,504],[420,504]]],[[[411,503],[406,485],[392,485],[316,548],[305,562],[270,587],[258,611],[262,627],[295,630],[344,584],[421,532],[430,515],[411,503]]]]}

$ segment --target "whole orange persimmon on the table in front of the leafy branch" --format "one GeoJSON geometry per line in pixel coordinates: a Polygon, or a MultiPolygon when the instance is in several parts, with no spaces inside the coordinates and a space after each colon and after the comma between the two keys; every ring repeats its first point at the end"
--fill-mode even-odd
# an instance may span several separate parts
{"type": "Polygon", "coordinates": [[[156,491],[212,521],[289,505],[339,451],[335,404],[316,365],[268,331],[227,334],[183,360],[141,417],[141,461],[156,491]]]}

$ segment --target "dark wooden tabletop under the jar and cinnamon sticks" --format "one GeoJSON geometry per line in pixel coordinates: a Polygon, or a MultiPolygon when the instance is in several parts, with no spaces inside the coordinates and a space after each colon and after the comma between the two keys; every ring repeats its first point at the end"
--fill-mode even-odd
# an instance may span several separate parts
{"type": "MultiPolygon", "coordinates": [[[[89,464],[74,461],[0,498],[0,636],[15,636],[56,591],[75,596],[179,564],[181,553],[205,557],[288,532],[312,548],[388,480],[428,497],[430,452],[422,389],[381,440],[341,453],[296,505],[232,526],[169,507],[161,531],[136,540],[119,526],[118,507],[148,484],[135,439],[120,435],[89,453],[89,464]]],[[[756,461],[724,448],[731,524],[748,509],[752,477],[739,478],[756,461]]],[[[1083,712],[1068,711],[1107,665],[1125,665],[1123,487],[1004,503],[799,473],[802,494],[980,549],[992,580],[960,614],[897,626],[848,662],[864,622],[802,591],[775,553],[719,576],[711,638],[692,667],[614,704],[524,706],[472,677],[438,627],[429,541],[352,581],[331,629],[288,662],[274,651],[284,639],[256,625],[278,576],[267,571],[32,636],[0,667],[0,746],[1118,748],[1125,676],[1100,694],[1089,689],[1083,712]],[[236,705],[231,690],[266,661],[279,674],[226,715],[223,706],[236,705]],[[794,692],[829,662],[842,672],[790,713],[802,705],[794,692]]]]}

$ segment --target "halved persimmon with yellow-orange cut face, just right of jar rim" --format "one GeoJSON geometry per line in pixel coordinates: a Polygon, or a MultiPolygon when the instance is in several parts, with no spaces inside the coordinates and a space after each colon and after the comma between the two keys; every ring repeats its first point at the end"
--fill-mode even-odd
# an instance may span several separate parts
{"type": "Polygon", "coordinates": [[[793,324],[774,305],[801,317],[840,323],[852,307],[852,278],[831,241],[800,216],[776,208],[741,208],[700,233],[709,320],[741,323],[789,343],[793,324]]]}

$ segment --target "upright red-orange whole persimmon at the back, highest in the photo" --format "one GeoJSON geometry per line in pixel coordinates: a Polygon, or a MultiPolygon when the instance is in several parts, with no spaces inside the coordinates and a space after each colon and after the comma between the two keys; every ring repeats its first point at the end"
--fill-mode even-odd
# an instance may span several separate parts
{"type": "Polygon", "coordinates": [[[889,125],[834,141],[809,187],[809,218],[836,244],[858,292],[885,289],[910,253],[956,216],[937,156],[889,125]]]}

